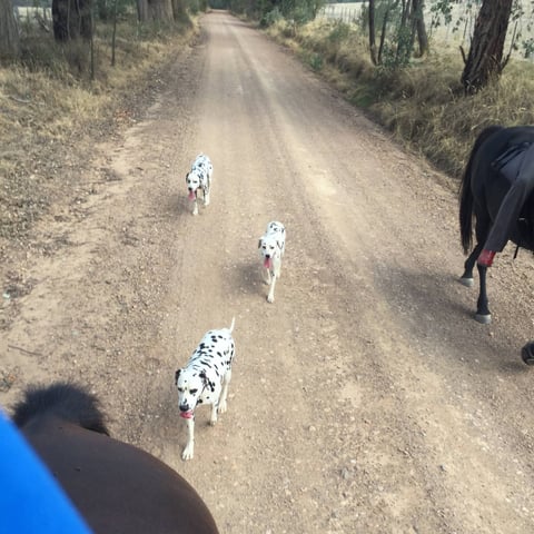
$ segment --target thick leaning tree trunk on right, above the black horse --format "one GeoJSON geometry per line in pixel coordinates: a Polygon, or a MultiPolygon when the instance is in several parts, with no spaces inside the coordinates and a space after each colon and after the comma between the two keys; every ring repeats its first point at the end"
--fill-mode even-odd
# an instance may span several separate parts
{"type": "Polygon", "coordinates": [[[465,59],[462,85],[473,95],[497,81],[506,66],[504,41],[508,29],[513,0],[484,0],[475,22],[469,53],[465,59]]]}

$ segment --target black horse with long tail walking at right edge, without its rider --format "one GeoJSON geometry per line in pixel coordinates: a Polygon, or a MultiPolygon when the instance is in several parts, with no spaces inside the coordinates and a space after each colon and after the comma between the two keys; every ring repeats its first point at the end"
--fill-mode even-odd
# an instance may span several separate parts
{"type": "MultiPolygon", "coordinates": [[[[475,218],[476,246],[464,264],[461,281],[473,285],[473,268],[497,215],[503,198],[511,187],[510,178],[500,171],[503,155],[520,145],[534,142],[534,127],[490,126],[475,140],[459,188],[459,228],[464,253],[468,254],[473,245],[473,217],[475,218]]],[[[517,246],[534,250],[534,198],[528,197],[523,206],[516,225],[510,233],[510,240],[517,246]]],[[[479,294],[476,307],[476,320],[491,323],[491,313],[486,294],[487,268],[477,264],[479,274],[479,294]]]]}

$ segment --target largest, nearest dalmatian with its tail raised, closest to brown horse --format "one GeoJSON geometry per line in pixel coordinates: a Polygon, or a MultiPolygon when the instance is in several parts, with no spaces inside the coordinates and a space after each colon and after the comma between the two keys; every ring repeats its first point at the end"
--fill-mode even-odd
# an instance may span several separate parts
{"type": "Polygon", "coordinates": [[[229,328],[207,332],[187,365],[175,374],[180,417],[186,419],[188,431],[182,459],[191,459],[195,452],[195,408],[200,404],[210,404],[211,425],[217,423],[217,414],[226,412],[235,354],[234,324],[235,318],[229,328]]]}

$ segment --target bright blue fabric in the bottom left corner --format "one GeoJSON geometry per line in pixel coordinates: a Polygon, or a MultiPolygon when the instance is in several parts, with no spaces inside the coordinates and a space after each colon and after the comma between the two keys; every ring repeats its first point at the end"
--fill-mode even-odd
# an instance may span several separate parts
{"type": "Polygon", "coordinates": [[[0,409],[0,533],[90,532],[48,468],[0,409]]]}

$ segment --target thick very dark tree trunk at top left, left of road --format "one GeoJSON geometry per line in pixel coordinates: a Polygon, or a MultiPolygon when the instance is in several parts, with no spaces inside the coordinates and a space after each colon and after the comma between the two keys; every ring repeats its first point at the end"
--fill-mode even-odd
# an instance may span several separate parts
{"type": "Polygon", "coordinates": [[[52,0],[53,37],[57,41],[92,37],[91,0],[52,0]]]}

